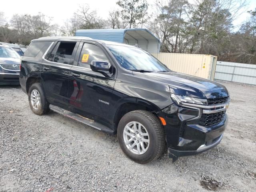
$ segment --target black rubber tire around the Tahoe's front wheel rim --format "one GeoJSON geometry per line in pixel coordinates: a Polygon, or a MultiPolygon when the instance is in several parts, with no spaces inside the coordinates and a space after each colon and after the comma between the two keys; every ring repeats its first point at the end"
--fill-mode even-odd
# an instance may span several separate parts
{"type": "Polygon", "coordinates": [[[117,130],[118,142],[124,154],[137,163],[146,164],[159,158],[164,152],[165,134],[164,128],[160,120],[151,112],[144,110],[136,110],[125,114],[119,124],[117,130]],[[144,154],[134,154],[124,143],[124,127],[132,121],[142,124],[149,135],[150,144],[144,154]]]}

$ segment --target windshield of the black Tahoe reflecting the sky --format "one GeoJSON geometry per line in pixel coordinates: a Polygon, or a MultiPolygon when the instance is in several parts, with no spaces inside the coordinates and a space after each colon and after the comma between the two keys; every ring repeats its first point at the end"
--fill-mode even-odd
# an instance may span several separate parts
{"type": "Polygon", "coordinates": [[[154,56],[140,48],[132,48],[119,45],[107,45],[119,64],[131,71],[167,72],[170,71],[154,56]]]}

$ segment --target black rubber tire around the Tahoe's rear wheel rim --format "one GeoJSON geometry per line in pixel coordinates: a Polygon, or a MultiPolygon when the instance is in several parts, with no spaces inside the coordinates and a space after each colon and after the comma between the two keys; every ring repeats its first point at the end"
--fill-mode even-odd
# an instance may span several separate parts
{"type": "Polygon", "coordinates": [[[40,83],[34,83],[30,86],[29,91],[28,91],[28,102],[29,102],[30,109],[32,110],[32,112],[34,114],[43,115],[43,114],[46,114],[47,112],[49,112],[49,110],[50,110],[49,103],[47,102],[45,94],[44,94],[44,89],[42,87],[42,84],[40,84],[40,83]],[[38,109],[35,109],[31,103],[30,96],[31,96],[31,92],[33,90],[37,90],[40,94],[40,105],[38,106],[38,109]]]}

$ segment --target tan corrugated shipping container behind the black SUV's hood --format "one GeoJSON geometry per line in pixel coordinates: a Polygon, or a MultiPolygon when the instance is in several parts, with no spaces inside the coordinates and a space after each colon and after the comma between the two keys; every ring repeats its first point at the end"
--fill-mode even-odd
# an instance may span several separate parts
{"type": "Polygon", "coordinates": [[[152,53],[170,70],[213,80],[217,57],[213,55],[152,53]]]}

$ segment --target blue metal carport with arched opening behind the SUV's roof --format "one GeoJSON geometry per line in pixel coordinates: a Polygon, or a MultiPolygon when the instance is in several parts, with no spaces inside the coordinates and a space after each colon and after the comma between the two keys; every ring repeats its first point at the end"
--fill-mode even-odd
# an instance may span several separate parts
{"type": "Polygon", "coordinates": [[[75,35],[138,45],[150,53],[157,53],[160,50],[160,40],[147,29],[81,29],[77,30],[75,35]]]}

